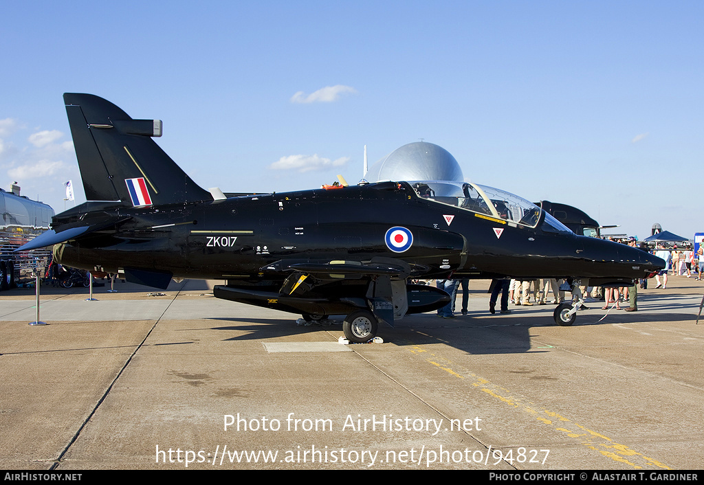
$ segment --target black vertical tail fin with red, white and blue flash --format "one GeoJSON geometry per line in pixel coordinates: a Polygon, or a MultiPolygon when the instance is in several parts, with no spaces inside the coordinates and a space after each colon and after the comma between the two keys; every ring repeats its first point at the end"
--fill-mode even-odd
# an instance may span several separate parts
{"type": "Polygon", "coordinates": [[[83,189],[89,201],[130,206],[210,200],[151,137],[161,121],[132,120],[92,94],[63,95],[83,189]]]}

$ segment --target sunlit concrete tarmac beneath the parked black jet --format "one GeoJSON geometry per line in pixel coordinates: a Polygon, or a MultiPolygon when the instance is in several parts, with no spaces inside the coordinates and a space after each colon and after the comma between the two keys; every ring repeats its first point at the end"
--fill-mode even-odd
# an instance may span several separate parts
{"type": "Polygon", "coordinates": [[[39,327],[33,289],[0,292],[0,467],[702,468],[704,282],[650,280],[637,312],[587,303],[572,327],[490,315],[470,282],[467,316],[351,346],[341,317],[296,325],[213,283],[42,287],[39,327]]]}

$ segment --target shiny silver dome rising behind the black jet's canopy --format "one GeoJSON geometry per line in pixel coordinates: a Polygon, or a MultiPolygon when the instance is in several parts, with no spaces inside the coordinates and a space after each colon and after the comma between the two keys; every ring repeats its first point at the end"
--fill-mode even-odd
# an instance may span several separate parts
{"type": "Polygon", "coordinates": [[[372,165],[364,177],[369,182],[384,180],[448,180],[462,182],[462,168],[441,146],[427,141],[403,145],[372,165]]]}

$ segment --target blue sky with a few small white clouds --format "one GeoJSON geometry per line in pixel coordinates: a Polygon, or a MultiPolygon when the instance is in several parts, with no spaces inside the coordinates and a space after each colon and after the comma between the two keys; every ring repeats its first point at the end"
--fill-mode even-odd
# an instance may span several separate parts
{"type": "Polygon", "coordinates": [[[0,186],[84,200],[64,92],[164,122],[201,185],[362,176],[425,139],[607,232],[704,232],[700,1],[0,0],[0,186]]]}

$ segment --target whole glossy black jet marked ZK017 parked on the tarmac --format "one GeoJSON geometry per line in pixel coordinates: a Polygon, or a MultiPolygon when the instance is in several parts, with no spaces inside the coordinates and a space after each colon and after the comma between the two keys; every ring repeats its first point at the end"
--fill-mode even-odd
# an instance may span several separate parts
{"type": "MultiPolygon", "coordinates": [[[[411,279],[589,277],[630,284],[664,267],[622,244],[575,235],[538,206],[477,184],[399,181],[227,197],[199,187],[133,120],[91,94],[64,94],[88,202],[54,217],[20,250],[54,245],[59,263],[165,289],[222,279],[218,298],[346,315],[351,341],[408,313],[446,305],[411,279]]],[[[598,283],[597,283],[598,282],[598,283]]],[[[560,306],[570,325],[579,302],[560,306]]]]}

